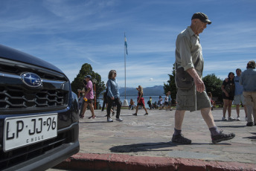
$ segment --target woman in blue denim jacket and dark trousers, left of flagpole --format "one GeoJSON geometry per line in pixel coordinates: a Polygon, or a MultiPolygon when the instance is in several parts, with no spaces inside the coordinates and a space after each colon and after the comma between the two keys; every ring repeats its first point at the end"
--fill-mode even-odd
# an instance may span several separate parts
{"type": "Polygon", "coordinates": [[[107,101],[108,101],[108,107],[106,109],[106,115],[107,115],[107,121],[113,122],[113,120],[110,117],[110,110],[112,108],[112,104],[115,103],[117,106],[117,112],[116,112],[116,120],[123,121],[120,118],[120,111],[121,111],[121,101],[120,101],[120,95],[119,95],[119,87],[118,87],[118,80],[115,79],[117,73],[115,70],[109,71],[109,80],[106,83],[108,87],[108,93],[107,93],[107,101]]]}

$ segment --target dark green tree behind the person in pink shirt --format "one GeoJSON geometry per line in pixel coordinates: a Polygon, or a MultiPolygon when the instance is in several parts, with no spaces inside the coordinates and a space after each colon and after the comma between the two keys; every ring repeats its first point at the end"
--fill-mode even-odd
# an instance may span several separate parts
{"type": "Polygon", "coordinates": [[[88,63],[85,63],[82,65],[82,68],[79,71],[79,74],[77,74],[77,77],[74,78],[74,81],[71,83],[71,89],[74,91],[77,95],[77,89],[83,89],[83,80],[86,75],[91,75],[92,80],[97,80],[97,83],[95,84],[96,89],[96,98],[100,96],[101,92],[106,89],[105,84],[103,81],[101,81],[100,74],[95,73],[95,71],[92,71],[92,66],[88,63]]]}

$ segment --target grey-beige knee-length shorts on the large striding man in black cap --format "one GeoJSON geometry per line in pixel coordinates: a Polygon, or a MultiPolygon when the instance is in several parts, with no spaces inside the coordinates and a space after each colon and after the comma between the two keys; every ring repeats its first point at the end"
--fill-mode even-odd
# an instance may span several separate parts
{"type": "Polygon", "coordinates": [[[206,91],[199,93],[195,86],[189,90],[177,88],[176,109],[185,111],[196,111],[203,108],[211,108],[211,101],[206,94],[206,91]]]}

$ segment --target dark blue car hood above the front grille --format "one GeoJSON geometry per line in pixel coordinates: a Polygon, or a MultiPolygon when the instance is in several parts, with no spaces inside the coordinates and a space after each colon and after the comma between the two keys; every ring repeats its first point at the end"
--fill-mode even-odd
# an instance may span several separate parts
{"type": "Polygon", "coordinates": [[[43,68],[48,68],[53,71],[57,71],[60,73],[63,73],[63,71],[60,70],[60,68],[57,68],[56,66],[52,65],[51,63],[48,63],[42,59],[39,59],[37,57],[33,57],[30,54],[25,54],[22,51],[18,51],[13,48],[9,48],[4,45],[0,45],[0,57],[5,59],[12,59],[19,62],[25,62],[31,65],[40,66],[43,68]]]}

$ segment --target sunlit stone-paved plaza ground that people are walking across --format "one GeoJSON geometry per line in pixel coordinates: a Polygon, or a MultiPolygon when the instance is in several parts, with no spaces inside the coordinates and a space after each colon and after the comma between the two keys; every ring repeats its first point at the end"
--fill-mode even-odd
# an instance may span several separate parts
{"type": "MultiPolygon", "coordinates": [[[[192,140],[191,145],[172,143],[174,113],[173,111],[144,110],[133,116],[134,110],[122,109],[118,122],[106,122],[106,110],[96,110],[96,119],[87,119],[91,112],[86,111],[85,118],[80,119],[80,153],[124,154],[132,156],[153,156],[170,158],[193,158],[205,161],[234,161],[256,164],[256,126],[246,126],[244,110],[240,110],[240,121],[222,121],[223,110],[212,111],[219,129],[234,132],[236,137],[229,141],[211,143],[208,126],[200,112],[186,112],[182,134],[192,140]]],[[[232,117],[236,117],[232,109],[232,117]]]]}

